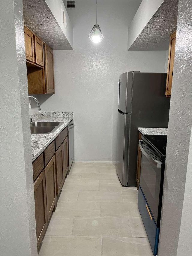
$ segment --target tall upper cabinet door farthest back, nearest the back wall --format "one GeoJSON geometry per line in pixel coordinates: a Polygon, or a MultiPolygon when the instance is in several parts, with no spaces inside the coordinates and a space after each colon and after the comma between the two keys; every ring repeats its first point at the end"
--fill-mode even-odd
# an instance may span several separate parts
{"type": "Polygon", "coordinates": [[[44,45],[46,93],[55,93],[53,50],[44,45]]]}

